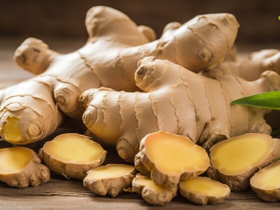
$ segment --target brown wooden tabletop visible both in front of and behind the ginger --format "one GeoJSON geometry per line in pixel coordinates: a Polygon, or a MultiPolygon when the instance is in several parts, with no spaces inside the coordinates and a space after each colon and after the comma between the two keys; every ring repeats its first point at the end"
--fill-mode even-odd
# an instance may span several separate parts
{"type": "MultiPolygon", "coordinates": [[[[32,75],[15,65],[12,55],[22,38],[0,37],[0,88],[15,84],[18,81],[29,78],[32,75]]],[[[47,41],[46,41],[47,42],[47,41]]],[[[80,40],[52,40],[49,39],[51,48],[60,52],[70,52],[83,44],[80,40]]],[[[251,46],[257,50],[261,47],[251,46]]],[[[245,55],[243,51],[242,55],[245,55]]],[[[67,130],[59,130],[57,133],[67,130]]],[[[69,130],[69,129],[68,129],[69,130]]],[[[70,130],[73,131],[73,130],[70,130]]],[[[0,141],[0,147],[7,146],[0,141]]],[[[105,148],[108,151],[106,163],[123,163],[113,148],[105,148]]],[[[51,173],[48,183],[37,187],[17,189],[0,183],[0,208],[5,209],[280,209],[280,203],[267,203],[261,201],[252,190],[246,192],[231,192],[229,198],[218,205],[196,205],[187,201],[179,193],[165,206],[153,207],[141,199],[139,194],[123,192],[111,198],[93,194],[82,185],[81,180],[66,179],[63,176],[51,173]]]]}

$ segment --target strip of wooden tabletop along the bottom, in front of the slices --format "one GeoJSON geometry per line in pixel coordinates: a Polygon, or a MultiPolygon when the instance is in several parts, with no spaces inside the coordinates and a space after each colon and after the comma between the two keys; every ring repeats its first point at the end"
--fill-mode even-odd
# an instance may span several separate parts
{"type": "MultiPolygon", "coordinates": [[[[12,208],[67,208],[67,209],[143,209],[149,207],[140,195],[124,192],[115,198],[93,194],[82,185],[81,180],[68,180],[62,176],[51,174],[48,183],[37,187],[15,189],[0,183],[0,207],[12,206],[12,208]]],[[[232,192],[228,200],[219,205],[216,209],[255,209],[255,208],[276,208],[279,203],[265,203],[257,198],[253,191],[242,193],[232,192]]],[[[177,195],[164,209],[187,208],[187,209],[212,209],[212,205],[199,206],[187,201],[181,195],[177,195]]]]}

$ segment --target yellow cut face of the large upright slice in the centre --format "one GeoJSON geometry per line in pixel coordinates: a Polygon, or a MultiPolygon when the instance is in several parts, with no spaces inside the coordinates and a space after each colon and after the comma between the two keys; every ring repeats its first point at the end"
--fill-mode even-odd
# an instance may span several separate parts
{"type": "Polygon", "coordinates": [[[150,161],[169,174],[206,170],[209,165],[208,155],[202,147],[186,137],[163,131],[147,136],[145,150],[150,161]]]}

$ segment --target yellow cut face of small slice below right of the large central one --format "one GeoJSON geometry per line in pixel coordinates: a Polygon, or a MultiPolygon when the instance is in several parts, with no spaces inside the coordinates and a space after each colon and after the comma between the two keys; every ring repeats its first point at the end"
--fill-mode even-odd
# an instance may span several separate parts
{"type": "Polygon", "coordinates": [[[180,188],[192,193],[209,195],[209,196],[225,196],[230,190],[224,184],[214,181],[208,177],[197,176],[187,180],[180,181],[180,188]]]}

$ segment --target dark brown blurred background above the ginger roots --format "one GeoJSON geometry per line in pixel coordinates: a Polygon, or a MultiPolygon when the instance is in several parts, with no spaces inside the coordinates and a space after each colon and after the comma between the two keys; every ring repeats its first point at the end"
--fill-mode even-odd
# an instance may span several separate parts
{"type": "Polygon", "coordinates": [[[85,14],[95,5],[118,9],[138,25],[152,27],[157,36],[168,22],[229,12],[240,23],[236,45],[241,53],[280,48],[280,0],[0,0],[0,87],[8,85],[6,78],[30,77],[11,60],[26,37],[40,38],[60,52],[83,45],[87,38],[85,14]],[[11,73],[3,74],[2,69],[11,73]]]}

